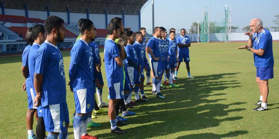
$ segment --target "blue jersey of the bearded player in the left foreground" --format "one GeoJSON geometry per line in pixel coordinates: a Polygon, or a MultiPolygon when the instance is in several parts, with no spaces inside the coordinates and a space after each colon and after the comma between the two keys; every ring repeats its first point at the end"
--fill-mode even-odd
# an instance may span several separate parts
{"type": "Polygon", "coordinates": [[[35,73],[43,74],[42,107],[66,102],[63,57],[57,46],[47,40],[38,49],[35,73]]]}

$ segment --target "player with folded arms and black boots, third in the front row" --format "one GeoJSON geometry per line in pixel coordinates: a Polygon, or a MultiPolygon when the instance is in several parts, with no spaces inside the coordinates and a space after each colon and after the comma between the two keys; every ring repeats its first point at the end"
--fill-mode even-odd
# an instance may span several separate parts
{"type": "MultiPolygon", "coordinates": [[[[117,127],[116,119],[116,105],[119,99],[123,99],[123,62],[125,56],[124,41],[119,39],[118,44],[120,45],[120,50],[117,44],[114,42],[115,39],[119,38],[121,27],[117,23],[109,23],[107,26],[108,38],[104,46],[104,63],[105,72],[108,82],[108,117],[111,123],[112,133],[126,133],[126,131],[121,130],[117,127]]],[[[123,28],[124,29],[124,28],[123,28]]]]}

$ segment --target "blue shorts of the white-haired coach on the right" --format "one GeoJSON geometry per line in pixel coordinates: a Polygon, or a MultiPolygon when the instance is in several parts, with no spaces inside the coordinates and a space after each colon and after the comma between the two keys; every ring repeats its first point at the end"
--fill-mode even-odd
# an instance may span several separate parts
{"type": "Polygon", "coordinates": [[[256,76],[260,78],[260,80],[268,80],[273,78],[273,67],[268,68],[258,68],[256,67],[256,76]]]}

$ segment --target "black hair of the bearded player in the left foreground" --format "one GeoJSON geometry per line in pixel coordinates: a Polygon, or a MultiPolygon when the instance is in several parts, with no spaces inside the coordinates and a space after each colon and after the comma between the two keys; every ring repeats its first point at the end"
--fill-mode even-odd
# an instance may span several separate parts
{"type": "Polygon", "coordinates": [[[59,29],[59,27],[62,26],[62,23],[64,23],[64,20],[61,19],[60,17],[57,16],[49,16],[46,20],[45,20],[45,29],[47,31],[48,34],[51,33],[52,29],[59,29]]]}

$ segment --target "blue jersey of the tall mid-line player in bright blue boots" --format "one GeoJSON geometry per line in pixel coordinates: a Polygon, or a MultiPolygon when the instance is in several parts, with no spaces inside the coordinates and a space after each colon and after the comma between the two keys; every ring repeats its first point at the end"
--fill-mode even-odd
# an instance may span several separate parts
{"type": "MultiPolygon", "coordinates": [[[[153,52],[154,57],[159,57],[159,61],[162,61],[162,53],[160,51],[161,47],[161,40],[159,40],[156,37],[152,37],[150,40],[147,42],[147,47],[151,48],[151,51],[153,52]]],[[[149,58],[151,58],[151,55],[149,54],[149,58]]],[[[153,59],[153,57],[152,57],[153,59]]]]}

